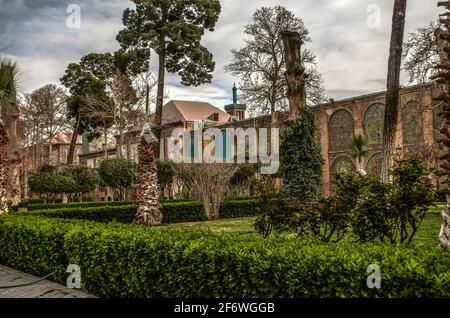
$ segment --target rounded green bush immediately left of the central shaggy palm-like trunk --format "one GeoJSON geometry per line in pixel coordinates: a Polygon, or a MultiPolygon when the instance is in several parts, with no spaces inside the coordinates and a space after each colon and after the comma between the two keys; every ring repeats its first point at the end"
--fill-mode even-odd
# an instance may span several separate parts
{"type": "Polygon", "coordinates": [[[102,160],[97,169],[102,181],[116,190],[131,188],[137,180],[137,166],[132,160],[123,158],[102,160]]]}

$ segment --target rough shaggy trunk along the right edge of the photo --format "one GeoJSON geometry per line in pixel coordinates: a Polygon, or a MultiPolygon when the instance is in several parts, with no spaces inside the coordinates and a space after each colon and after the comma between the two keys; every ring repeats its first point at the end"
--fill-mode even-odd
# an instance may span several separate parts
{"type": "Polygon", "coordinates": [[[443,248],[448,249],[450,248],[450,1],[441,1],[438,6],[445,7],[447,13],[440,15],[440,27],[436,30],[441,62],[436,66],[438,74],[432,79],[444,89],[434,100],[442,105],[442,112],[438,116],[443,118],[443,124],[440,128],[441,136],[437,140],[442,153],[439,156],[437,175],[440,177],[440,184],[445,187],[447,201],[446,208],[442,211],[444,220],[439,233],[439,242],[443,248]]]}

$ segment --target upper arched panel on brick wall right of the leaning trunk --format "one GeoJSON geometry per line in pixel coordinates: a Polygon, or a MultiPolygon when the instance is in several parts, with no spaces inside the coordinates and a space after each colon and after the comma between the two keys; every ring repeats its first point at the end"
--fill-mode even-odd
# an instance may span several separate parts
{"type": "Polygon", "coordinates": [[[413,144],[423,140],[423,116],[420,104],[407,103],[402,110],[403,143],[413,144]]]}

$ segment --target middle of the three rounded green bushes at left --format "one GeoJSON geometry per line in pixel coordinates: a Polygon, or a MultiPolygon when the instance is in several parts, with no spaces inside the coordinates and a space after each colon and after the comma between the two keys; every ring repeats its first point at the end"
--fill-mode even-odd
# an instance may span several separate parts
{"type": "MultiPolygon", "coordinates": [[[[71,193],[88,193],[99,184],[97,170],[82,165],[72,165],[61,169],[62,175],[72,178],[75,181],[75,191],[71,193]]],[[[69,192],[69,191],[67,191],[69,192]]]]}

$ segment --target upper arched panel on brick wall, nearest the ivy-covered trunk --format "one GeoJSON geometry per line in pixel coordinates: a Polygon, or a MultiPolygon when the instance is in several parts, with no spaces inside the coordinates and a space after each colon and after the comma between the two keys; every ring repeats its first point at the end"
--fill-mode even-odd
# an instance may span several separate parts
{"type": "Polygon", "coordinates": [[[330,118],[328,134],[330,151],[346,151],[355,131],[353,116],[346,110],[338,110],[330,118]]]}

